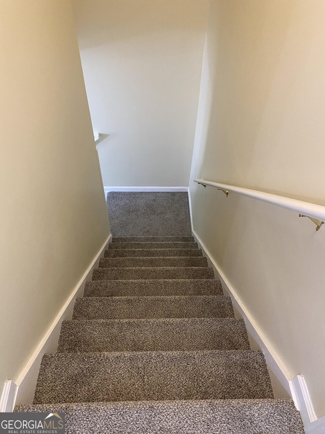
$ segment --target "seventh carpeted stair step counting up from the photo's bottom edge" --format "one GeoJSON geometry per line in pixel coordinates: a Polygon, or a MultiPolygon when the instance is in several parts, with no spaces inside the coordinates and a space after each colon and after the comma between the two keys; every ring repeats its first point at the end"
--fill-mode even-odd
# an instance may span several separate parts
{"type": "Polygon", "coordinates": [[[110,267],[208,267],[206,257],[104,257],[100,268],[110,267]]]}

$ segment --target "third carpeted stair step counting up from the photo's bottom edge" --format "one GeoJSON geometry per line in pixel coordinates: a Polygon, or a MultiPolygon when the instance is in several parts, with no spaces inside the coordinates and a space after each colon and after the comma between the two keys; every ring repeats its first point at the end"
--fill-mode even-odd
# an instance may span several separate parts
{"type": "Polygon", "coordinates": [[[63,321],[58,352],[248,350],[243,319],[63,321]]]}

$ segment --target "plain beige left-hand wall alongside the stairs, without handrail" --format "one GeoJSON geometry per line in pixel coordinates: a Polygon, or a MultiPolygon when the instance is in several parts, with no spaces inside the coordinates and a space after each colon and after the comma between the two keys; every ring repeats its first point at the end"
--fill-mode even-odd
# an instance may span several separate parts
{"type": "Polygon", "coordinates": [[[0,389],[109,234],[70,1],[0,4],[0,389]]]}

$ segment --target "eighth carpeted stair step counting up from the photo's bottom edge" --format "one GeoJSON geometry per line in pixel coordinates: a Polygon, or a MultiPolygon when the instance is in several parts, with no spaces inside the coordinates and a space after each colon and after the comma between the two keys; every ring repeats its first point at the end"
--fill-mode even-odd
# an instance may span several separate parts
{"type": "Polygon", "coordinates": [[[199,249],[108,249],[105,257],[202,256],[199,249]]]}

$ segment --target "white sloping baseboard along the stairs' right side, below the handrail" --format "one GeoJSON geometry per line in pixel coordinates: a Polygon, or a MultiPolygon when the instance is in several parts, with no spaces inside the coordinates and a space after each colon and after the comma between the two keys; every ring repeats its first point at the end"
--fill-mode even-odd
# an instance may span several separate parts
{"type": "Polygon", "coordinates": [[[223,289],[232,298],[234,308],[237,309],[243,317],[248,333],[262,349],[269,371],[272,371],[277,381],[295,402],[297,410],[300,411],[305,432],[308,434],[324,434],[325,416],[317,419],[304,377],[298,374],[293,378],[270,341],[258,327],[249,310],[241,301],[236,289],[230,284],[221,267],[213,259],[211,253],[194,229],[192,229],[192,234],[198,242],[199,247],[202,249],[203,254],[207,257],[209,266],[213,268],[216,277],[221,280],[223,289]]]}

